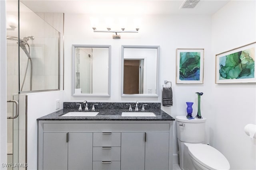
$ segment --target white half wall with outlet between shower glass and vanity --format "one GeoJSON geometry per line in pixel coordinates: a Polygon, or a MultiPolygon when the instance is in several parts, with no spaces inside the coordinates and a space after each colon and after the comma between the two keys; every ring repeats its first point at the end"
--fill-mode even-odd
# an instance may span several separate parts
{"type": "Polygon", "coordinates": [[[55,101],[60,99],[60,109],[63,108],[63,91],[32,93],[28,95],[27,105],[27,163],[28,170],[37,169],[37,132],[36,119],[48,115],[59,109],[55,109],[55,101]]]}

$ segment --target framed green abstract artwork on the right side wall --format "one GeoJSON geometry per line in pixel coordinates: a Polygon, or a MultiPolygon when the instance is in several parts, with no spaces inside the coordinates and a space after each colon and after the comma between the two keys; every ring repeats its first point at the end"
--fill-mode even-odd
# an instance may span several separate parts
{"type": "Polygon", "coordinates": [[[256,82],[256,42],[216,55],[215,83],[256,82]]]}

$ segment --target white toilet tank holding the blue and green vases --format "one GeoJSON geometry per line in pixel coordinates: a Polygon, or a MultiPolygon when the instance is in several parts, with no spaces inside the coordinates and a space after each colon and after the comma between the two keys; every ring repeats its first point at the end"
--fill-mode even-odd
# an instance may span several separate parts
{"type": "Polygon", "coordinates": [[[203,119],[187,119],[186,116],[176,116],[177,136],[182,142],[199,143],[204,142],[205,122],[203,119]]]}

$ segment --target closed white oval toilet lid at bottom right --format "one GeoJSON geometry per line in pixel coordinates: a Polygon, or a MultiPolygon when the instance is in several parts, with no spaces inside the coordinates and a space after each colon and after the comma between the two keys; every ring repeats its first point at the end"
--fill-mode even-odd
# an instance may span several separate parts
{"type": "Polygon", "coordinates": [[[188,153],[197,162],[210,170],[229,170],[226,157],[217,149],[203,144],[188,145],[188,153]]]}

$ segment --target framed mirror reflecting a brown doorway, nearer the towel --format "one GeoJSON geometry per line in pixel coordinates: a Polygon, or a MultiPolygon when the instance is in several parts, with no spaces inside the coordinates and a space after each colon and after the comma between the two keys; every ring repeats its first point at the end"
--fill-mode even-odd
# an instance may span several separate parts
{"type": "Polygon", "coordinates": [[[122,45],[121,96],[158,97],[160,46],[122,45]]]}

